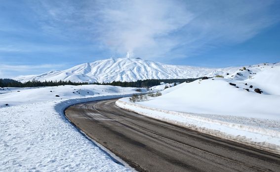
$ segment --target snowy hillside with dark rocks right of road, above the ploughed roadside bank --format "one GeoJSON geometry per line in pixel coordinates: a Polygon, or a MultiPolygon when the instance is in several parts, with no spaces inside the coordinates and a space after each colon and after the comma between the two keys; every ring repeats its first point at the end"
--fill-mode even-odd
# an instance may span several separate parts
{"type": "Polygon", "coordinates": [[[197,80],[167,88],[162,96],[139,104],[198,114],[280,119],[279,63],[255,65],[234,73],[229,78],[197,80]],[[255,88],[263,93],[256,93],[255,88]]]}

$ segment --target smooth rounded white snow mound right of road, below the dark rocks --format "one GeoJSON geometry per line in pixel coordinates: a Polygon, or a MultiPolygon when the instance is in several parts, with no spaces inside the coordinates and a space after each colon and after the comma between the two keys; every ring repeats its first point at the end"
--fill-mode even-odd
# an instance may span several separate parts
{"type": "Polygon", "coordinates": [[[279,95],[259,94],[254,87],[249,88],[232,80],[197,80],[175,86],[173,90],[171,88],[164,90],[160,97],[138,103],[170,111],[280,119],[279,95]],[[239,88],[229,83],[235,83],[239,88]]]}

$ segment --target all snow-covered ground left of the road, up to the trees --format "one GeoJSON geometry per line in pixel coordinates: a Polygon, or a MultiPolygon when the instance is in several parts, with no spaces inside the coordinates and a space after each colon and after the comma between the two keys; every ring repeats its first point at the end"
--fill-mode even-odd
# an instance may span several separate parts
{"type": "Polygon", "coordinates": [[[84,137],[63,111],[80,102],[137,93],[135,89],[97,85],[1,89],[0,171],[131,171],[84,137]]]}

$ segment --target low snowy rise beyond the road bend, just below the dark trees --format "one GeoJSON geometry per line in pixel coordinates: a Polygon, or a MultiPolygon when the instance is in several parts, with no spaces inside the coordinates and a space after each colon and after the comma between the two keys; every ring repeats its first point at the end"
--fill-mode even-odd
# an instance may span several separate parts
{"type": "MultiPolygon", "coordinates": [[[[112,93],[130,94],[138,88],[102,85],[82,86],[46,86],[0,89],[0,108],[8,106],[23,105],[36,102],[55,101],[64,99],[87,98],[92,96],[107,95],[112,93]],[[1,94],[2,93],[2,94],[1,94]],[[59,97],[56,97],[58,95],[59,97]]],[[[145,91],[143,89],[143,91],[145,91]]]]}

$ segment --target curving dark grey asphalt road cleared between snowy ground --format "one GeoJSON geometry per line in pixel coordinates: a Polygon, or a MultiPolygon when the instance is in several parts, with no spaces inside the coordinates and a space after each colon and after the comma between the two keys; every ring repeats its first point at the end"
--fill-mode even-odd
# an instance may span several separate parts
{"type": "Polygon", "coordinates": [[[138,171],[280,172],[280,156],[124,111],[117,99],[69,107],[65,115],[138,171]]]}

